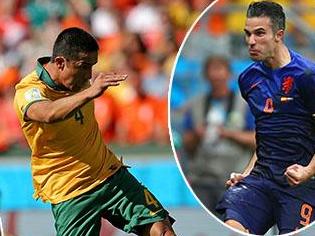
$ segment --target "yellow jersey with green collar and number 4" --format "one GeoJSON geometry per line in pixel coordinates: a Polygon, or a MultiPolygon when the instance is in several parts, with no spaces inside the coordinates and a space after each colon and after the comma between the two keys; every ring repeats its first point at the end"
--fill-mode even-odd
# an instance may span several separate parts
{"type": "Polygon", "coordinates": [[[43,67],[49,59],[38,59],[36,70],[16,85],[14,106],[32,150],[34,198],[57,204],[95,188],[122,163],[102,140],[93,100],[62,121],[25,119],[34,102],[73,95],[62,91],[50,78],[43,67]]]}

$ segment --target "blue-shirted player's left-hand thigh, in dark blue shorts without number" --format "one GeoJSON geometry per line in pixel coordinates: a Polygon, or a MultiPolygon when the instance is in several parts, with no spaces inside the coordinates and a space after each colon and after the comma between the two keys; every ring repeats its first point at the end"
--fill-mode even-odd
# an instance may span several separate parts
{"type": "Polygon", "coordinates": [[[231,227],[251,234],[264,235],[274,225],[274,204],[263,177],[248,176],[230,187],[216,210],[231,227]]]}

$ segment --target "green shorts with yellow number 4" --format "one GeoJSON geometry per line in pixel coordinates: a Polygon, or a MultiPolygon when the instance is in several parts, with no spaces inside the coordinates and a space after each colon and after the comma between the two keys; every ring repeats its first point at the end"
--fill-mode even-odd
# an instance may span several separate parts
{"type": "Polygon", "coordinates": [[[141,226],[168,217],[154,195],[126,167],[91,191],[52,204],[52,212],[57,236],[99,235],[101,218],[127,233],[138,234],[141,226]]]}

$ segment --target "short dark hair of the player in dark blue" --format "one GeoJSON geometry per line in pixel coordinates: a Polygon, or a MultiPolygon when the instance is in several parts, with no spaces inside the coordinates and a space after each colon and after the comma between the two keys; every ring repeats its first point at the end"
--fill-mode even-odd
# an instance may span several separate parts
{"type": "Polygon", "coordinates": [[[252,2],[247,9],[246,16],[261,17],[267,16],[272,23],[273,32],[285,30],[285,14],[280,4],[271,1],[252,2]]]}

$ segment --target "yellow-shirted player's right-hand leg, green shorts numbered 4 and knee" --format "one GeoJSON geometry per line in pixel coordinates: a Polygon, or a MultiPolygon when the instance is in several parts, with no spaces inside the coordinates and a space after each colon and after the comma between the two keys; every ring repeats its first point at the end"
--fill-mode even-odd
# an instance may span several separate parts
{"type": "Polygon", "coordinates": [[[143,236],[175,235],[169,216],[156,197],[127,168],[110,179],[101,196],[102,217],[127,233],[143,236]]]}

